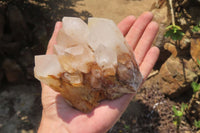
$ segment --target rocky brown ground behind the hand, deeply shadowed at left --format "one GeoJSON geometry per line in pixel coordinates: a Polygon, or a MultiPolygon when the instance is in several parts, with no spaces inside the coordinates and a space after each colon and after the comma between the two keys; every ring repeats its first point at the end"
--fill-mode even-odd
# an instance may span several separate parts
{"type": "Polygon", "coordinates": [[[35,133],[41,117],[40,83],[34,79],[34,55],[45,53],[56,21],[63,16],[105,17],[116,23],[125,16],[152,11],[160,24],[154,42],[161,50],[154,70],[109,133],[177,132],[172,106],[191,105],[180,132],[200,132],[200,93],[192,98],[191,82],[199,82],[200,21],[197,0],[174,0],[177,25],[185,33],[180,46],[164,38],[171,24],[167,0],[0,0],[0,132],[35,133]],[[97,10],[98,9],[98,10],[97,10]],[[192,100],[193,99],[193,100],[192,100]]]}

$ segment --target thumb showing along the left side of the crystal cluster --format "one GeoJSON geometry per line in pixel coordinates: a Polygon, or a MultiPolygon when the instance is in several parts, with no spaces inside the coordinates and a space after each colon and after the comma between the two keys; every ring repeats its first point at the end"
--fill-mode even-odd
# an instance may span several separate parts
{"type": "Polygon", "coordinates": [[[54,27],[54,32],[53,32],[51,39],[49,41],[49,44],[47,46],[46,54],[52,54],[53,53],[53,45],[56,44],[56,37],[57,37],[58,32],[61,28],[62,28],[62,22],[56,22],[56,25],[54,27]]]}

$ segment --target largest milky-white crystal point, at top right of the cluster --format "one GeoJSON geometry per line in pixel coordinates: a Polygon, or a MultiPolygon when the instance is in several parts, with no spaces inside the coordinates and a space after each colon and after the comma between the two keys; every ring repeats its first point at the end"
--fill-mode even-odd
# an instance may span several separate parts
{"type": "Polygon", "coordinates": [[[94,51],[99,45],[103,45],[117,53],[128,53],[128,48],[124,45],[125,39],[112,20],[89,18],[88,27],[90,31],[88,42],[94,51]]]}

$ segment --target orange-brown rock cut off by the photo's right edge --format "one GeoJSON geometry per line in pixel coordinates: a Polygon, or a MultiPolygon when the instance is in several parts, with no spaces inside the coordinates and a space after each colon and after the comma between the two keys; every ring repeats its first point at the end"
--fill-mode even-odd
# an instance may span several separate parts
{"type": "Polygon", "coordinates": [[[195,62],[200,60],[200,38],[191,39],[190,54],[195,62]]]}

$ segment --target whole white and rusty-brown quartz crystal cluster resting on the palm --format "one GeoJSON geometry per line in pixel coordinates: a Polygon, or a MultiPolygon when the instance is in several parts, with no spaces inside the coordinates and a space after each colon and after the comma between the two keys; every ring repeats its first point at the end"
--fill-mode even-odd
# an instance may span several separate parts
{"type": "Polygon", "coordinates": [[[135,93],[143,78],[112,20],[64,17],[53,55],[35,56],[35,77],[75,108],[89,112],[105,99],[135,93]]]}

